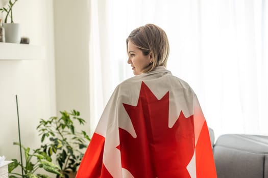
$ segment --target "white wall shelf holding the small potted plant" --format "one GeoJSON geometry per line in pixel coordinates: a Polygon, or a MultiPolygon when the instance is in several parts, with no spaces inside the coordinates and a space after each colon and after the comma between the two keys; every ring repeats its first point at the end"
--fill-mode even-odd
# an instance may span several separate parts
{"type": "Polygon", "coordinates": [[[43,46],[0,43],[0,60],[43,60],[44,58],[43,46]]]}

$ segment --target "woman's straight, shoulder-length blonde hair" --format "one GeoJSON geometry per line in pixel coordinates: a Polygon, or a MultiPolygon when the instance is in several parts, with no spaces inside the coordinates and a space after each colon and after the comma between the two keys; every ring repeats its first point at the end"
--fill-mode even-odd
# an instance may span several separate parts
{"type": "Polygon", "coordinates": [[[126,40],[127,47],[129,41],[137,46],[143,55],[152,53],[153,63],[143,69],[142,73],[150,72],[158,66],[166,67],[169,44],[166,33],[162,28],[154,24],[140,26],[130,33],[126,40]]]}

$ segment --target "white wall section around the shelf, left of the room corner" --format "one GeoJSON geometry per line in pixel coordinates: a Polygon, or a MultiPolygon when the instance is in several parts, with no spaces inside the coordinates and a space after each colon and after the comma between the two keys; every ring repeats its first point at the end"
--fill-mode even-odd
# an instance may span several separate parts
{"type": "Polygon", "coordinates": [[[22,144],[37,148],[39,118],[56,114],[53,0],[21,0],[14,5],[14,21],[30,44],[45,47],[45,59],[0,60],[0,156],[19,159],[18,95],[22,144]]]}

